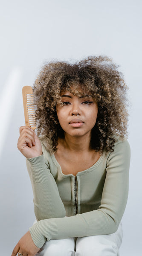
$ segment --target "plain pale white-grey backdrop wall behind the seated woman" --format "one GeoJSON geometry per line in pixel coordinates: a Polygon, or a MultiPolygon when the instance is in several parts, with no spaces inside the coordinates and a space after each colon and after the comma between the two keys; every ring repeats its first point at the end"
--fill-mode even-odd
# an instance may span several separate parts
{"type": "Polygon", "coordinates": [[[24,157],[21,89],[46,60],[107,55],[130,87],[130,189],[123,216],[121,256],[141,255],[142,230],[142,1],[0,0],[0,254],[11,255],[35,219],[24,157]]]}

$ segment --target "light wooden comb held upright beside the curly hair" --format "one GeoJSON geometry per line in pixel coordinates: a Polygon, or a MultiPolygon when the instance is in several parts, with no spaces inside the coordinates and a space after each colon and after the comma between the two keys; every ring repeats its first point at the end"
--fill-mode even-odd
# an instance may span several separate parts
{"type": "Polygon", "coordinates": [[[36,128],[34,97],[31,86],[24,86],[22,88],[23,107],[25,115],[25,124],[31,126],[33,130],[36,128]]]}

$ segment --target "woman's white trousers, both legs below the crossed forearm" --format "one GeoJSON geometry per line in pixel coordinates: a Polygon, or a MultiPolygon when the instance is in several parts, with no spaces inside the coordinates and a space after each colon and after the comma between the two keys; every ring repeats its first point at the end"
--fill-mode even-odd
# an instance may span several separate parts
{"type": "Polygon", "coordinates": [[[46,241],[36,256],[119,256],[122,223],[110,235],[72,237],[46,241]]]}

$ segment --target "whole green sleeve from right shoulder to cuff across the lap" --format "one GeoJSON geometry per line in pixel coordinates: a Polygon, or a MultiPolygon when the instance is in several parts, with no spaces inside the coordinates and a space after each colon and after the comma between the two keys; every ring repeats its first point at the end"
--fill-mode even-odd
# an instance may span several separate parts
{"type": "MultiPolygon", "coordinates": [[[[116,232],[128,198],[130,146],[128,141],[116,143],[106,159],[106,178],[99,209],[70,217],[49,218],[29,228],[37,247],[46,239],[66,239],[105,235],[116,232]]],[[[89,186],[89,185],[88,185],[89,186]]]]}

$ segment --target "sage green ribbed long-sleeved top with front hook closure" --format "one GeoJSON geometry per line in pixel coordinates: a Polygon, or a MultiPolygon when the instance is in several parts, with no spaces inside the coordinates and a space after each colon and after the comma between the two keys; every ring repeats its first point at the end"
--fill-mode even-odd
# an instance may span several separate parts
{"type": "Polygon", "coordinates": [[[128,198],[128,141],[115,143],[114,152],[104,151],[76,176],[64,175],[55,155],[41,142],[43,155],[26,160],[38,220],[29,228],[35,245],[41,248],[46,239],[116,232],[128,198]]]}

